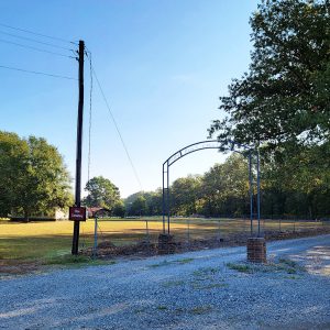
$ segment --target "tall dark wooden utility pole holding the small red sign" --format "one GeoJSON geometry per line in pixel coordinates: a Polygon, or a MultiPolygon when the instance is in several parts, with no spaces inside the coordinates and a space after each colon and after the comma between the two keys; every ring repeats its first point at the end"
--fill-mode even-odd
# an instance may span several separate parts
{"type": "MultiPolygon", "coordinates": [[[[78,122],[77,122],[77,155],[76,155],[76,189],[75,205],[81,206],[81,144],[82,144],[82,117],[84,117],[84,53],[85,43],[79,41],[78,62],[79,62],[79,101],[78,101],[78,122]]],[[[78,254],[80,222],[75,221],[72,254],[78,254]]]]}

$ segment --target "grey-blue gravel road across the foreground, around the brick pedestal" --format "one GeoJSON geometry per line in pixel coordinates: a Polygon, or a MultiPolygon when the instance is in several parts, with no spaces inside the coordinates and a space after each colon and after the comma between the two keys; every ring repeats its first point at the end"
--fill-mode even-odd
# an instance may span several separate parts
{"type": "Polygon", "coordinates": [[[0,280],[0,329],[330,329],[330,235],[0,280]],[[294,262],[292,262],[294,261],[294,262]]]}

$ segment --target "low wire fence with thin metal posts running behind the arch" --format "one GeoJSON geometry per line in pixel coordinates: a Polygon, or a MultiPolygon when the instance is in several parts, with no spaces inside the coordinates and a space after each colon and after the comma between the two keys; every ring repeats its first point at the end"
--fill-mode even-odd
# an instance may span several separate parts
{"type": "MultiPolygon", "coordinates": [[[[256,232],[257,221],[253,220],[253,229],[256,232]]],[[[158,235],[163,231],[161,217],[134,218],[134,219],[98,219],[97,227],[94,220],[82,224],[80,242],[81,248],[94,248],[99,244],[113,244],[127,246],[139,243],[156,244],[158,235]],[[84,226],[86,229],[84,230],[84,226]],[[94,229],[97,229],[94,231],[94,229]],[[96,242],[97,239],[97,242],[96,242]]],[[[293,237],[309,233],[322,233],[330,231],[330,221],[305,219],[262,219],[261,235],[268,238],[282,234],[293,237]]],[[[244,242],[251,235],[251,221],[248,218],[172,218],[170,234],[175,241],[187,249],[194,248],[202,241],[212,242],[212,246],[223,245],[226,242],[238,244],[244,242]]]]}

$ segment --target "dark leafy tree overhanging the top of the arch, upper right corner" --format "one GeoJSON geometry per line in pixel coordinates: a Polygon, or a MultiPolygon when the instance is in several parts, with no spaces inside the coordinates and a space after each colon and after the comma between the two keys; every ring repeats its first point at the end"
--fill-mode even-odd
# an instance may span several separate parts
{"type": "Polygon", "coordinates": [[[252,63],[220,97],[222,141],[323,143],[330,134],[329,0],[263,0],[250,20],[252,63]]]}

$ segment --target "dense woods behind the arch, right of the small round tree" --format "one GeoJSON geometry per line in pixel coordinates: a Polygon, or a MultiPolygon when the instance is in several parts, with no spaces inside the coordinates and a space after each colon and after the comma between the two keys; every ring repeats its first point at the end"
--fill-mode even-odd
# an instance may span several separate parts
{"type": "MultiPolygon", "coordinates": [[[[285,160],[262,158],[261,213],[264,218],[330,217],[330,167],[319,157],[330,145],[301,148],[285,160]]],[[[204,175],[178,178],[170,185],[173,216],[250,217],[249,164],[239,154],[213,165],[204,175]]],[[[255,173],[254,173],[255,180],[255,173]]],[[[256,191],[253,190],[254,209],[256,191]]],[[[128,216],[162,215],[162,190],[140,191],[124,200],[128,216]]]]}

